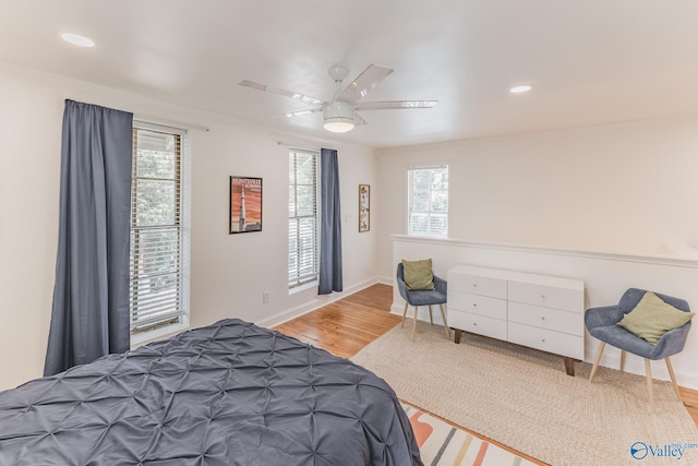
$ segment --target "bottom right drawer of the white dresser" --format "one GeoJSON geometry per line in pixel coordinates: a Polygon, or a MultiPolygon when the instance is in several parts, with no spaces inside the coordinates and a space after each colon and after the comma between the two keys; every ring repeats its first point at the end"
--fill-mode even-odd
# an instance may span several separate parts
{"type": "Polygon", "coordinates": [[[582,336],[568,335],[516,322],[508,323],[507,333],[509,342],[518,345],[579,360],[585,358],[585,339],[582,336]]]}

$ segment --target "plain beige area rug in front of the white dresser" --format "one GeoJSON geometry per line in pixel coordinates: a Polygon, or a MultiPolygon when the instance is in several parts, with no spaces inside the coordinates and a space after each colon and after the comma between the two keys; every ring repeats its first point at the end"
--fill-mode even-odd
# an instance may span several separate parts
{"type": "Polygon", "coordinates": [[[397,325],[352,361],[416,406],[554,466],[698,465],[698,429],[669,382],[588,363],[566,374],[562,358],[444,328],[397,325]],[[681,452],[681,453],[679,453],[681,452]],[[678,455],[681,459],[678,458],[678,455]]]}

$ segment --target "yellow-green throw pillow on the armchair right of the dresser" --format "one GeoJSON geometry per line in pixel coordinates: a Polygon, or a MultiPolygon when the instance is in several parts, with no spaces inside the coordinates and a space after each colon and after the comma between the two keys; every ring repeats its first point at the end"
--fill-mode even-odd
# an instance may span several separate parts
{"type": "Polygon", "coordinates": [[[618,322],[618,325],[652,345],[657,345],[662,335],[684,325],[694,315],[695,312],[684,312],[676,309],[652,291],[647,291],[635,309],[618,322]]]}

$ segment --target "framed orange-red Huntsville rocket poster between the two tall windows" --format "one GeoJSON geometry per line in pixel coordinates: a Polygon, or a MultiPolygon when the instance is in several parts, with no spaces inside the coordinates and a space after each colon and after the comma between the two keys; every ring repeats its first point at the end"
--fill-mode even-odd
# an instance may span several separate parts
{"type": "Polygon", "coordinates": [[[230,235],[262,231],[262,178],[230,177],[230,235]]]}

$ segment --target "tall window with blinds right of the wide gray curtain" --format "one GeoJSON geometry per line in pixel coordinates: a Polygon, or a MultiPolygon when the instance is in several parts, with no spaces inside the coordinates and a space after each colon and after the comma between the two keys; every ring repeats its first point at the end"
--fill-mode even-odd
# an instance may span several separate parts
{"type": "MultiPolygon", "coordinates": [[[[181,130],[134,122],[131,187],[131,334],[186,324],[188,180],[181,130]]],[[[152,335],[155,336],[155,335],[152,335]]]]}

